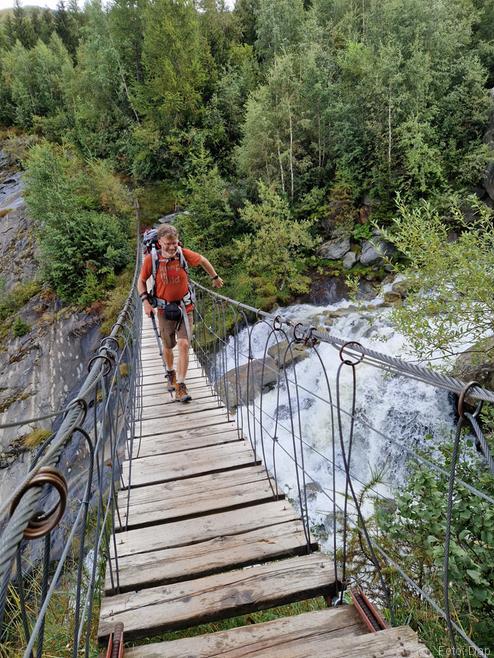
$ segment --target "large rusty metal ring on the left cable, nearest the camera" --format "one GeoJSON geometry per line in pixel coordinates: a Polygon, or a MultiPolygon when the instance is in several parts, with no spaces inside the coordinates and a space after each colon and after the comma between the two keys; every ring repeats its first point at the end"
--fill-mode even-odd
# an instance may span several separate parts
{"type": "Polygon", "coordinates": [[[10,516],[12,517],[14,514],[26,491],[33,487],[44,487],[45,485],[51,485],[58,491],[58,502],[49,512],[37,513],[31,518],[24,530],[25,539],[39,539],[47,535],[58,524],[65,512],[68,495],[67,482],[64,476],[55,468],[44,466],[21,488],[14,498],[10,506],[10,516]]]}

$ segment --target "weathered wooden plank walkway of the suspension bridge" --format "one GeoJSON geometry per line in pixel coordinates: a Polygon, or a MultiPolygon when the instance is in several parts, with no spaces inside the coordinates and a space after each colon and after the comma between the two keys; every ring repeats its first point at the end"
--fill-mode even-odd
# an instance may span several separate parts
{"type": "MultiPolygon", "coordinates": [[[[122,525],[109,556],[114,570],[118,565],[119,592],[107,567],[99,638],[117,622],[126,640],[152,638],[333,593],[332,560],[317,545],[307,547],[298,514],[228,418],[192,352],[192,401],[180,404],[166,392],[148,325],[145,318],[141,421],[123,463],[122,525]]],[[[147,644],[126,656],[365,658],[406,651],[423,658],[424,650],[408,628],[368,634],[355,609],[345,606],[147,644]]]]}

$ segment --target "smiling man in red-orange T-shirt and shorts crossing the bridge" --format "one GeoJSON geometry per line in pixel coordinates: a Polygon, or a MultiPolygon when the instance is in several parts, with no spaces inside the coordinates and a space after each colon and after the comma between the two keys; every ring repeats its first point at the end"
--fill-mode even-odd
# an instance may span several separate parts
{"type": "MultiPolygon", "coordinates": [[[[194,305],[189,290],[188,266],[199,267],[209,274],[215,288],[221,288],[223,280],[211,263],[201,254],[182,249],[174,226],[162,224],[157,231],[158,264],[155,272],[154,295],[158,305],[158,325],[163,343],[163,359],[166,366],[168,391],[175,390],[175,399],[188,402],[191,399],[185,385],[189,366],[189,345],[192,337],[192,311],[194,305]],[[173,368],[173,348],[178,346],[177,370],[173,368]]],[[[146,281],[153,273],[152,255],[144,257],[137,291],[148,317],[154,313],[147,292],[146,281]]]]}

